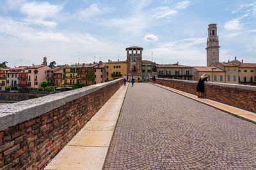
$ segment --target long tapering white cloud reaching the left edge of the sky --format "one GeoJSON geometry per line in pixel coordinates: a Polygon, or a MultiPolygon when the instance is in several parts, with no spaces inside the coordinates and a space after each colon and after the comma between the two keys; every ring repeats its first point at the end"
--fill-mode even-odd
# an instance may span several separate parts
{"type": "Polygon", "coordinates": [[[30,40],[54,40],[54,41],[67,41],[68,39],[61,33],[44,32],[26,26],[24,22],[17,22],[12,19],[0,17],[0,32],[15,36],[20,39],[30,40]]]}

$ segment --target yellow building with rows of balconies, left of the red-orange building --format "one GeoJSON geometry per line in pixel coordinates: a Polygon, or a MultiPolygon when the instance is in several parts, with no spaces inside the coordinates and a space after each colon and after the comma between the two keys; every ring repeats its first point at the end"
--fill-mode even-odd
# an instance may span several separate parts
{"type": "Polygon", "coordinates": [[[77,83],[77,72],[78,72],[78,66],[72,65],[72,66],[64,66],[62,67],[62,80],[61,84],[64,87],[70,87],[72,85],[76,85],[77,83]]]}

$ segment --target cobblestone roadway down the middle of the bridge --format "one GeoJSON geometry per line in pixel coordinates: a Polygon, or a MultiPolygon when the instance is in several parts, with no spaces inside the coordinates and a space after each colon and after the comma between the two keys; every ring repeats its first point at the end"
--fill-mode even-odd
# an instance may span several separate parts
{"type": "Polygon", "coordinates": [[[129,87],[105,169],[256,169],[256,125],[160,87],[129,87]]]}

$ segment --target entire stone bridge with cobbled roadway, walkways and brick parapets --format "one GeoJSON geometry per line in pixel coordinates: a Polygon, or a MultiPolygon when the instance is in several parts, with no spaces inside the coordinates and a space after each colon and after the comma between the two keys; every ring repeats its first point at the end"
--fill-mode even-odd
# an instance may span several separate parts
{"type": "Polygon", "coordinates": [[[256,87],[122,79],[0,107],[1,169],[256,169],[256,87]]]}

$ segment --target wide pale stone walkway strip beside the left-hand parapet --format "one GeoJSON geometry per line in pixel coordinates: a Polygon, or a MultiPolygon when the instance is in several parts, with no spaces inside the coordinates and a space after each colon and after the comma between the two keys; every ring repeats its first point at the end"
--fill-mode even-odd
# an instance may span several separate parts
{"type": "Polygon", "coordinates": [[[102,169],[126,91],[120,87],[45,170],[102,169]]]}

